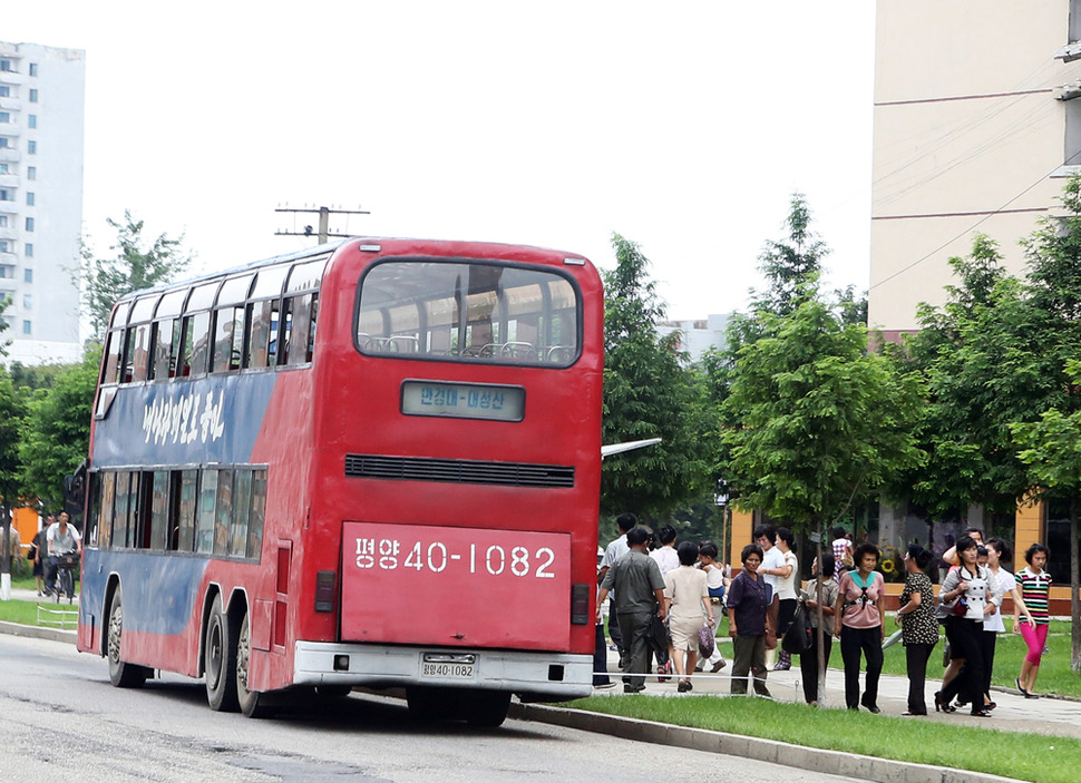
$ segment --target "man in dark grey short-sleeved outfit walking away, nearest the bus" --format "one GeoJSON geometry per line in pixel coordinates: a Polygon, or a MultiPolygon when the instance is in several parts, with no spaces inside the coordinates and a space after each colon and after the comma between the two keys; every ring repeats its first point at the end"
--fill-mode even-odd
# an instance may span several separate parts
{"type": "Polygon", "coordinates": [[[645,674],[650,667],[650,626],[654,614],[664,619],[664,578],[656,560],[645,554],[649,540],[650,534],[645,528],[636,527],[627,531],[630,551],[605,571],[597,597],[600,616],[601,603],[614,590],[620,632],[626,646],[624,693],[645,691],[645,674]]]}

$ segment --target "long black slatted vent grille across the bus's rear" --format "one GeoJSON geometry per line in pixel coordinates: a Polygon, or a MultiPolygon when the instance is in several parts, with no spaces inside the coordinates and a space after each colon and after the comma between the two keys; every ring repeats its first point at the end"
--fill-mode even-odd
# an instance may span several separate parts
{"type": "Polygon", "coordinates": [[[345,454],[345,476],[366,479],[450,481],[507,487],[574,487],[574,468],[523,462],[480,462],[425,457],[345,454]]]}

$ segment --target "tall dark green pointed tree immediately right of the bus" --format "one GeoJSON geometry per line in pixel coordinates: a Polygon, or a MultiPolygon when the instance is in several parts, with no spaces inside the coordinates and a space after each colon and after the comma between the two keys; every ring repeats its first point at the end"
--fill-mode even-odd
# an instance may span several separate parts
{"type": "Polygon", "coordinates": [[[604,273],[604,442],[661,438],[661,443],[605,460],[604,513],[670,511],[709,483],[705,415],[699,376],[684,365],[678,335],[661,337],[664,305],[639,245],[613,234],[616,267],[604,273]]]}

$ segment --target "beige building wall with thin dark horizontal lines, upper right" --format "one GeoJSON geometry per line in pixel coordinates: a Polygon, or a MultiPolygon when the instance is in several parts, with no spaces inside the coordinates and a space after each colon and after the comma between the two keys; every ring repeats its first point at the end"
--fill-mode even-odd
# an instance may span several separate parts
{"type": "Polygon", "coordinates": [[[1081,172],[1079,30],[1081,0],[878,0],[868,320],[887,337],[945,301],[976,234],[1023,268],[1019,239],[1081,172]]]}

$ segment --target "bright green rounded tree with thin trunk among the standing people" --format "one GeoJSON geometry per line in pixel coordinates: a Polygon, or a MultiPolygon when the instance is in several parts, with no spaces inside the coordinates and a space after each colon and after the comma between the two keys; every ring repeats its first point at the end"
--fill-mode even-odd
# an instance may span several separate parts
{"type": "Polygon", "coordinates": [[[817,532],[820,558],[827,528],[858,493],[923,459],[912,434],[922,388],[892,356],[867,352],[866,327],[843,323],[810,290],[800,298],[787,316],[760,314],[765,336],[739,350],[723,439],[737,503],[817,532]]]}

